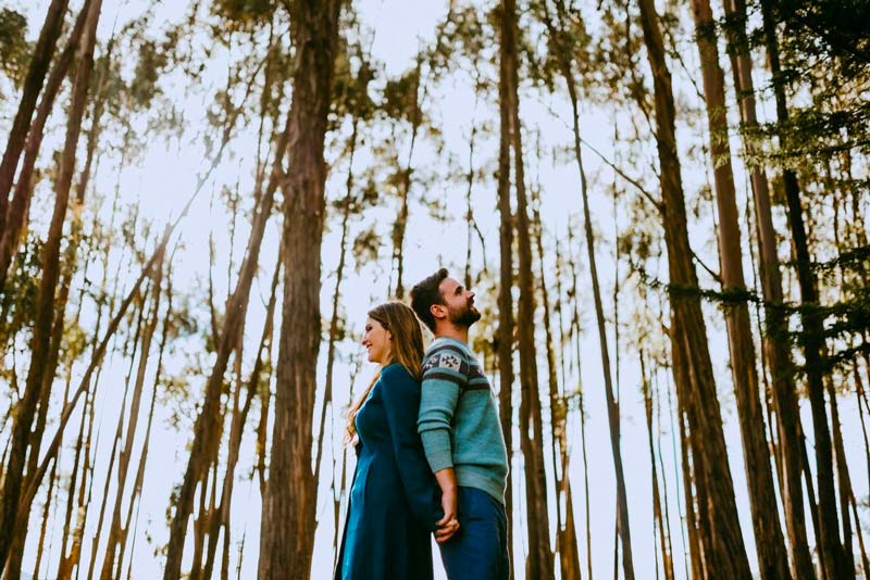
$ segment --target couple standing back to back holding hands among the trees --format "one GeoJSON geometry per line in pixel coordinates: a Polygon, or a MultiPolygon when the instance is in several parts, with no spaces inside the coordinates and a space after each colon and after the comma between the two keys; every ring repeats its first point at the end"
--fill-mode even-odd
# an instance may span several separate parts
{"type": "Polygon", "coordinates": [[[434,532],[451,580],[507,580],[508,458],[468,345],[474,293],[442,268],[414,286],[411,306],[387,302],[365,323],[381,371],[348,413],[358,462],[335,577],[431,579],[434,532]],[[425,356],[414,313],[435,335],[425,356]]]}

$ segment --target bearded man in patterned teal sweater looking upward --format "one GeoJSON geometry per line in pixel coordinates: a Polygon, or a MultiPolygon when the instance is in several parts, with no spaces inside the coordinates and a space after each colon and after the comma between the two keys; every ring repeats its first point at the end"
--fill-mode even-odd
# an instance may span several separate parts
{"type": "Polygon", "coordinates": [[[442,268],[414,286],[411,307],[435,335],[417,425],[442,489],[444,567],[451,580],[507,580],[508,454],[489,381],[468,345],[469,327],[481,318],[474,292],[442,268]]]}

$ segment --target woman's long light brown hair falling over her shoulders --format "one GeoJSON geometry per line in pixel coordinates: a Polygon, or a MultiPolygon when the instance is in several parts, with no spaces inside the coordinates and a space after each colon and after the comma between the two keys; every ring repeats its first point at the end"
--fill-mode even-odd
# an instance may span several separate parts
{"type": "MultiPolygon", "coordinates": [[[[423,363],[423,332],[420,330],[420,323],[414,316],[414,311],[402,302],[389,301],[375,306],[369,311],[369,317],[377,320],[385,330],[391,335],[390,340],[390,363],[398,363],[403,366],[410,375],[420,380],[420,366],[423,363]]],[[[386,366],[386,365],[384,365],[386,366]]],[[[347,412],[347,441],[349,442],[357,434],[357,413],[369,398],[372,388],[381,378],[381,369],[375,373],[372,382],[365,387],[362,394],[350,405],[347,412]]]]}

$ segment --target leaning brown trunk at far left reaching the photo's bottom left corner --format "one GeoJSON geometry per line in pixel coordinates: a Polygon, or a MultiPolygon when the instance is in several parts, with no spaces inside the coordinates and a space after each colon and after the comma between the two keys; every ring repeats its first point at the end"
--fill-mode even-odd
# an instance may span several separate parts
{"type": "MultiPolygon", "coordinates": [[[[41,362],[47,358],[51,340],[51,324],[54,313],[54,291],[58,286],[61,236],[63,234],[63,222],[66,216],[66,206],[70,199],[70,187],[75,172],[75,149],[78,143],[90,72],[94,66],[94,46],[96,43],[100,7],[101,0],[94,0],[94,3],[88,7],[85,38],[76,55],[76,74],[73,81],[73,96],[70,104],[63,155],[58,171],[54,212],[51,217],[48,238],[42,248],[42,279],[39,283],[39,293],[36,302],[36,319],[34,321],[33,340],[30,341],[32,361],[41,362]]],[[[39,84],[41,85],[41,79],[39,84]]],[[[27,115],[27,122],[29,122],[29,114],[27,115]]],[[[17,155],[15,155],[15,160],[17,160],[17,155]]],[[[0,196],[0,199],[5,199],[5,196],[0,196]]],[[[34,413],[39,402],[39,395],[41,394],[44,374],[45,366],[41,363],[30,365],[27,373],[24,395],[18,405],[18,412],[12,427],[12,446],[9,464],[4,474],[2,519],[0,519],[0,566],[5,566],[9,556],[9,547],[12,544],[16,527],[15,519],[18,510],[18,503],[22,499],[21,491],[23,487],[25,456],[27,454],[34,413]]],[[[47,401],[46,404],[48,404],[47,401]]],[[[26,512],[29,513],[29,510],[26,512]]]]}

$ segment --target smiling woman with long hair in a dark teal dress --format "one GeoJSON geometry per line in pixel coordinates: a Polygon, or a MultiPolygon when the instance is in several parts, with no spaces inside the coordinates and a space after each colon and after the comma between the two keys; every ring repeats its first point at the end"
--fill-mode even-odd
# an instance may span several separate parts
{"type": "Polygon", "coordinates": [[[430,534],[442,512],[417,433],[423,336],[413,311],[373,308],[362,345],[381,369],[348,412],[358,459],[335,577],[431,579],[430,534]]]}

